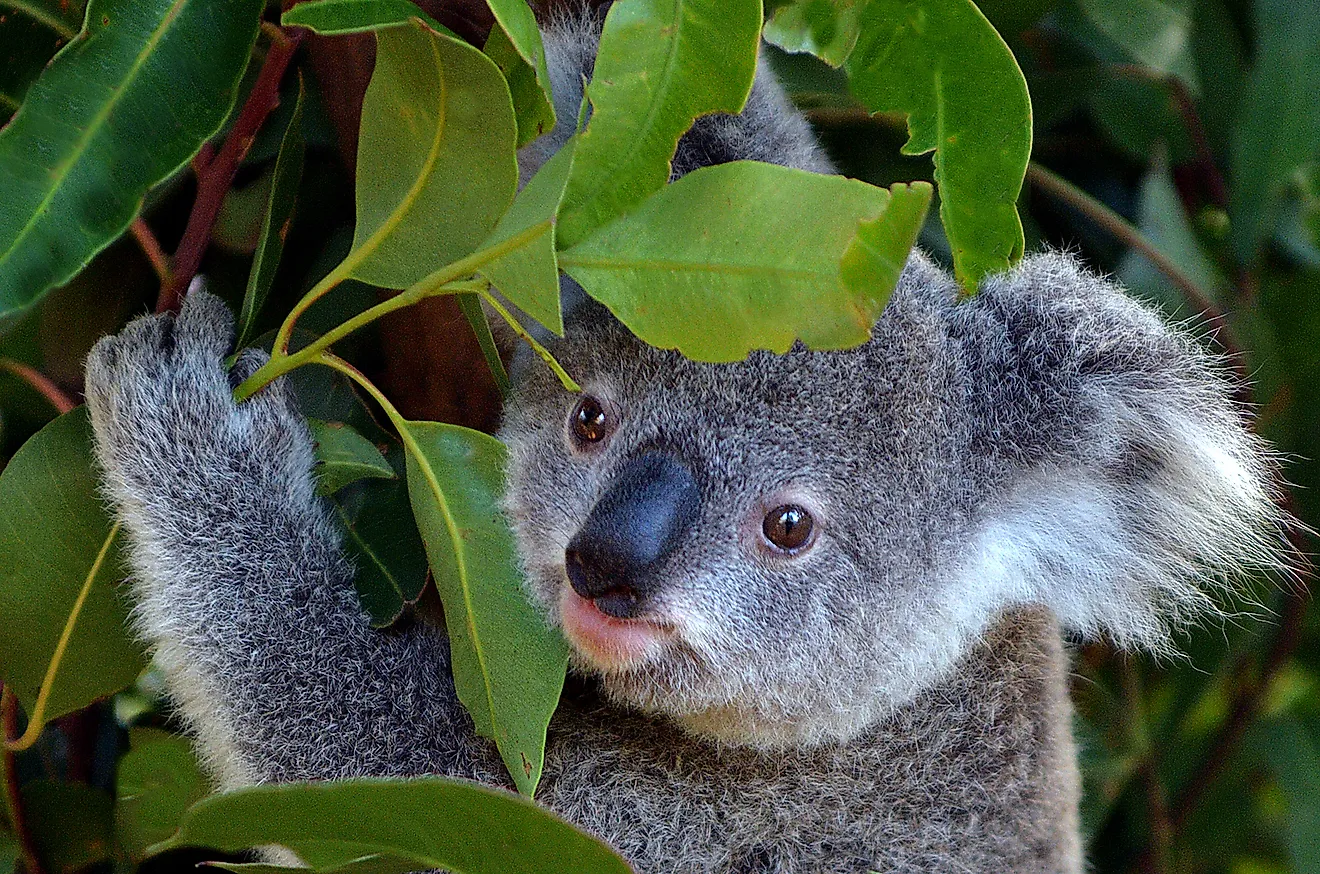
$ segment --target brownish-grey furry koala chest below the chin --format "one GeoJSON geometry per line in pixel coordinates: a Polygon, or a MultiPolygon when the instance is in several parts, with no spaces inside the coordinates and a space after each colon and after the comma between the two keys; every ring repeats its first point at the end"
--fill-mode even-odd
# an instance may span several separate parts
{"type": "Polygon", "coordinates": [[[537,797],[643,874],[1076,871],[1049,630],[1057,679],[1039,669],[1053,659],[994,647],[863,737],[813,750],[717,749],[577,702],[552,726],[537,797]]]}

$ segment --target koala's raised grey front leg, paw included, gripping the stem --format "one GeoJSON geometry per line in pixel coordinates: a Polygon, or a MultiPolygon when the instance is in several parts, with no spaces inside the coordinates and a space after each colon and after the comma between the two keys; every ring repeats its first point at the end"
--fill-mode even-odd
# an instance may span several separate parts
{"type": "Polygon", "coordinates": [[[312,438],[263,360],[223,356],[206,293],[102,339],[87,401],[106,491],[131,545],[139,631],[227,787],[352,775],[474,776],[488,758],[455,700],[442,634],[374,631],[314,494],[312,438]]]}

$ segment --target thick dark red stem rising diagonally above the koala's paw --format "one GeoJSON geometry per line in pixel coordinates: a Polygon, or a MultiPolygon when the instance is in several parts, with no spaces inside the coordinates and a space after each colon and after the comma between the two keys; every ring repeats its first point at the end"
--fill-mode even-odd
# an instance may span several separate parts
{"type": "Polygon", "coordinates": [[[224,139],[224,145],[214,158],[206,161],[197,178],[197,199],[193,201],[193,214],[187,217],[187,228],[183,239],[180,240],[174,251],[174,273],[169,284],[161,289],[160,300],[156,301],[156,312],[178,312],[183,302],[183,289],[189,286],[197,276],[197,268],[202,264],[202,255],[211,242],[211,230],[215,219],[220,214],[224,195],[234,185],[234,174],[238,173],[239,164],[247,156],[256,139],[256,132],[261,129],[267,116],[280,103],[280,81],[284,71],[302,42],[305,30],[293,29],[281,32],[282,40],[275,40],[271,50],[257,74],[256,84],[248,94],[239,118],[235,119],[230,135],[224,139]]]}

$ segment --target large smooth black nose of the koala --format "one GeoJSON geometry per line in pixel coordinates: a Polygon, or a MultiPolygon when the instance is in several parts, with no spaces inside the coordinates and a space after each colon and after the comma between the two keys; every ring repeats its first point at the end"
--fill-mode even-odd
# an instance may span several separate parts
{"type": "Polygon", "coordinates": [[[636,617],[659,584],[660,564],[700,512],[688,465],[663,452],[634,458],[564,552],[573,590],[611,617],[636,617]]]}

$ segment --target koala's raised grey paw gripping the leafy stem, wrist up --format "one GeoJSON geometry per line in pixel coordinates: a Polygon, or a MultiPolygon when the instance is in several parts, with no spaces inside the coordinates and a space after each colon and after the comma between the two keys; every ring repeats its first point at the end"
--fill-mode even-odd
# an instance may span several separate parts
{"type": "Polygon", "coordinates": [[[106,337],[87,358],[86,393],[96,452],[112,483],[169,490],[190,471],[246,470],[300,463],[306,426],[276,380],[243,404],[234,386],[267,356],[244,351],[226,372],[234,318],[203,290],[178,317],[145,316],[106,337]]]}

